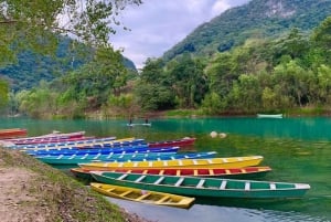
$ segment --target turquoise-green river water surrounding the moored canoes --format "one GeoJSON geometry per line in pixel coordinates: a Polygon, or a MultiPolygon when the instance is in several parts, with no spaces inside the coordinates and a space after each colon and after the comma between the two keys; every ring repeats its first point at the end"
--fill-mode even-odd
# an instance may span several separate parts
{"type": "Polygon", "coordinates": [[[0,128],[26,128],[29,136],[52,130],[85,130],[86,135],[135,136],[148,141],[195,137],[196,142],[190,150],[215,150],[220,157],[261,155],[265,158],[261,165],[273,168],[263,180],[311,186],[300,200],[197,199],[189,210],[109,199],[151,221],[331,221],[331,118],[243,117],[150,121],[151,127],[129,128],[126,120],[0,119],[0,128]],[[211,131],[225,133],[227,137],[211,138],[211,131]]]}

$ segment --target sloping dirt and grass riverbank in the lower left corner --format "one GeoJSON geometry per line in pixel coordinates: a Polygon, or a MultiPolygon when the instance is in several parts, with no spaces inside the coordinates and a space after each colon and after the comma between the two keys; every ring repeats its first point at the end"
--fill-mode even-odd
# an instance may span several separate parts
{"type": "Polygon", "coordinates": [[[65,173],[0,148],[1,222],[147,222],[65,173]]]}

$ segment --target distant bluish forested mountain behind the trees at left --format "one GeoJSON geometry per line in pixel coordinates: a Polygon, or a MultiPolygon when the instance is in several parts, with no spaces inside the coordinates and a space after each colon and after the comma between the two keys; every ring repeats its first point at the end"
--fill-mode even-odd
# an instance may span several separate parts
{"type": "MultiPolygon", "coordinates": [[[[18,54],[17,63],[0,67],[0,78],[10,83],[11,91],[30,89],[39,85],[40,81],[53,81],[68,71],[78,68],[90,57],[71,52],[68,39],[60,42],[55,56],[45,56],[32,51],[18,54]]],[[[136,70],[132,61],[124,57],[124,64],[129,70],[136,70]]]]}

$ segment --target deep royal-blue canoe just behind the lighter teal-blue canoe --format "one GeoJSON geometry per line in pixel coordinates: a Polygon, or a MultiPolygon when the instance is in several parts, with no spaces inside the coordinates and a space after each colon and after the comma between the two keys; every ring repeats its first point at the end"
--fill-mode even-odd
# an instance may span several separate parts
{"type": "Polygon", "coordinates": [[[172,152],[178,151],[179,147],[149,148],[147,145],[103,148],[103,149],[49,149],[49,150],[24,150],[31,156],[85,156],[85,155],[113,155],[113,154],[132,154],[132,152],[172,152]]]}

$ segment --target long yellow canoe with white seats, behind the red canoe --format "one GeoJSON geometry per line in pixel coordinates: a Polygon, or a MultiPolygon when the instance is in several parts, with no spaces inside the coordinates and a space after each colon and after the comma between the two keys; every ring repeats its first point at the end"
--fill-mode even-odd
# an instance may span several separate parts
{"type": "Polygon", "coordinates": [[[150,168],[242,168],[257,166],[263,160],[261,156],[227,157],[209,159],[177,159],[157,161],[127,161],[127,162],[88,162],[79,163],[79,167],[88,170],[111,170],[111,169],[150,169],[150,168]]]}

